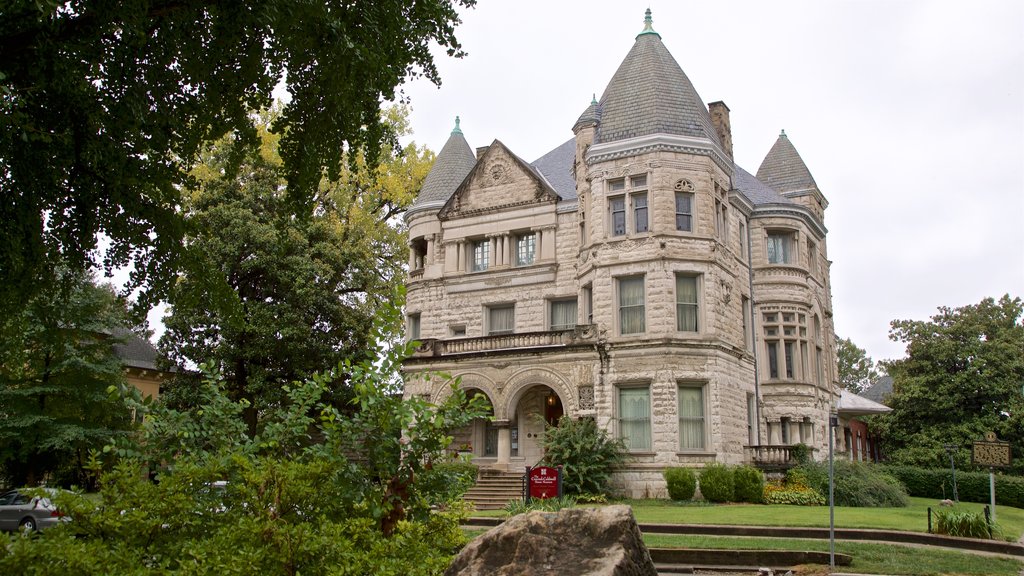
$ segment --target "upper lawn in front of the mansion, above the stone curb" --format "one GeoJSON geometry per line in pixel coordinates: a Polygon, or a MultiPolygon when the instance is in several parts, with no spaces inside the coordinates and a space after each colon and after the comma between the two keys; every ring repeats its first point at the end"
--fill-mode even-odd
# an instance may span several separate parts
{"type": "MultiPolygon", "coordinates": [[[[633,506],[633,513],[640,523],[828,527],[828,506],[708,504],[672,500],[624,500],[618,503],[633,506]]],[[[927,532],[929,506],[933,511],[939,509],[938,502],[930,498],[910,498],[910,505],[903,508],[837,506],[836,527],[927,532]]],[[[961,502],[954,509],[980,512],[984,504],[961,502]]],[[[997,506],[995,512],[1002,536],[1017,541],[1024,534],[1024,509],[997,506]]],[[[480,511],[474,516],[502,518],[504,512],[480,511]]]]}

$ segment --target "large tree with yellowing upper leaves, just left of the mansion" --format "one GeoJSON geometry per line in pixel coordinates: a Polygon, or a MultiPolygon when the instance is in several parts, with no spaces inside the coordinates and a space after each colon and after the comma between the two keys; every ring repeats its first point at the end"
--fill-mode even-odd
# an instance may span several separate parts
{"type": "MultiPolygon", "coordinates": [[[[296,217],[269,131],[274,117],[262,117],[258,148],[227,138],[197,168],[201,186],[183,205],[189,259],[170,291],[160,340],[180,369],[217,368],[231,397],[249,403],[250,436],[258,415],[284,401],[284,384],[372,354],[371,327],[402,277],[406,234],[392,220],[433,161],[413,143],[385,146],[379,165],[353,154],[296,217]],[[232,161],[237,171],[226,167],[232,161]]],[[[404,109],[385,117],[404,134],[404,109]]]]}

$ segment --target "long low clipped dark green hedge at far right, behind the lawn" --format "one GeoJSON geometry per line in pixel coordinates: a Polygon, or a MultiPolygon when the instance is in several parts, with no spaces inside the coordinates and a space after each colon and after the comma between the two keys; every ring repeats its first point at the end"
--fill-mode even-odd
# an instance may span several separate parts
{"type": "MultiPolygon", "coordinates": [[[[953,497],[952,470],[888,464],[884,468],[896,477],[911,496],[937,499],[953,497]]],[[[965,502],[987,503],[988,474],[957,470],[956,495],[965,502]]],[[[1024,478],[996,474],[995,503],[1024,508],[1024,478]]]]}

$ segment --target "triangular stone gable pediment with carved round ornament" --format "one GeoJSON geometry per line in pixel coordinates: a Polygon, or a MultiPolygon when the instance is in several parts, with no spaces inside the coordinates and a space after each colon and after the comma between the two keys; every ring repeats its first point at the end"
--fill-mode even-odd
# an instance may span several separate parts
{"type": "Polygon", "coordinates": [[[495,140],[438,213],[441,219],[558,201],[558,194],[526,162],[495,140]]]}

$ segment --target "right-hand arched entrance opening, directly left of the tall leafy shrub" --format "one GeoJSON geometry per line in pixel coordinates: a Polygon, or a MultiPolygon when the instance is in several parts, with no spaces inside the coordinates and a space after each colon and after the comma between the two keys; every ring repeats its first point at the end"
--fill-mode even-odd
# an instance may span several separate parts
{"type": "Polygon", "coordinates": [[[562,399],[550,386],[525,387],[515,403],[509,421],[512,460],[531,466],[544,457],[544,428],[556,425],[565,413],[562,399]]]}

